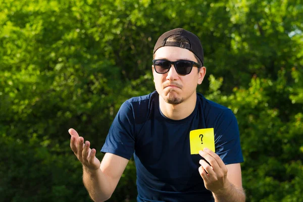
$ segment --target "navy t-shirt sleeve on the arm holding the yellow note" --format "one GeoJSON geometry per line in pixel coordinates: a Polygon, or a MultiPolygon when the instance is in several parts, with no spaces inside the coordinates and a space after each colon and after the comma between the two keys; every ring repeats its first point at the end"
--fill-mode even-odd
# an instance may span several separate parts
{"type": "Polygon", "coordinates": [[[238,122],[231,110],[224,110],[215,125],[216,154],[225,165],[244,162],[238,122]]]}

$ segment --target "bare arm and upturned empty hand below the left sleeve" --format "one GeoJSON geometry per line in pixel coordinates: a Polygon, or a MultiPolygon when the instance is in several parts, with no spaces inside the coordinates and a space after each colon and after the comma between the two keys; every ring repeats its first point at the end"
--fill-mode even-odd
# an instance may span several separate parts
{"type": "Polygon", "coordinates": [[[95,201],[108,200],[113,194],[128,160],[107,153],[102,163],[95,157],[96,150],[90,149],[89,141],[79,137],[74,129],[70,129],[70,146],[83,165],[83,183],[90,197],[95,201]]]}

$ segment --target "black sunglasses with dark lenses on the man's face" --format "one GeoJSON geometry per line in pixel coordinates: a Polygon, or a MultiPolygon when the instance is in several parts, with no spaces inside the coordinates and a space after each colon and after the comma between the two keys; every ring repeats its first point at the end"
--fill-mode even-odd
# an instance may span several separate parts
{"type": "Polygon", "coordinates": [[[175,67],[175,70],[180,75],[187,75],[191,72],[192,66],[195,65],[196,67],[200,68],[199,64],[189,61],[189,60],[179,60],[179,61],[169,61],[169,60],[153,60],[153,64],[155,67],[155,71],[158,74],[165,74],[167,73],[172,64],[175,67]]]}

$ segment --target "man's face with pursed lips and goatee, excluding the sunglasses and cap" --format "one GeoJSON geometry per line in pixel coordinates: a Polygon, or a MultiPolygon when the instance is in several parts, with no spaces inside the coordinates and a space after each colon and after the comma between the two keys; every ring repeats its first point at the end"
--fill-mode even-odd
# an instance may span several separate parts
{"type": "MultiPolygon", "coordinates": [[[[155,60],[165,59],[169,61],[190,60],[197,63],[194,54],[187,49],[163,46],[155,53],[155,60]]],[[[174,65],[165,74],[158,74],[153,65],[153,75],[155,87],[159,95],[166,103],[178,105],[191,96],[195,96],[196,87],[201,84],[206,73],[206,68],[198,68],[193,66],[192,70],[187,75],[180,75],[176,72],[174,65]]]]}

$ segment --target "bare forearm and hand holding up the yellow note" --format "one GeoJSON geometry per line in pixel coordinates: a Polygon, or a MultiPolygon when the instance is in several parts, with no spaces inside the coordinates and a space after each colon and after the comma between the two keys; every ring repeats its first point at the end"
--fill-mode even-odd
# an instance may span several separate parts
{"type": "Polygon", "coordinates": [[[240,164],[225,165],[210,149],[204,149],[199,154],[210,163],[209,165],[205,160],[200,160],[199,173],[205,187],[213,192],[215,201],[245,201],[240,164]]]}

